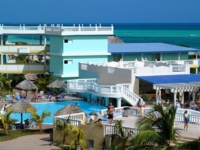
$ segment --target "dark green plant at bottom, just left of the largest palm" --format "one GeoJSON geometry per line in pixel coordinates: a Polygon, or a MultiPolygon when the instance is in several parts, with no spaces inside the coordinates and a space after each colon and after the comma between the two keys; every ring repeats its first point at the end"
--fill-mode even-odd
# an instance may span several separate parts
{"type": "Polygon", "coordinates": [[[111,135],[111,149],[122,150],[125,149],[128,138],[131,137],[133,132],[129,129],[125,129],[122,126],[122,120],[114,120],[114,134],[111,135]]]}

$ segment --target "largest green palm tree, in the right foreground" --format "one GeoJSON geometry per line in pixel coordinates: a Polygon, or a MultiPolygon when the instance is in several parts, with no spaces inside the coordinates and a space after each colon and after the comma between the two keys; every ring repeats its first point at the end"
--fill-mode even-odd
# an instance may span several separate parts
{"type": "MultiPolygon", "coordinates": [[[[177,144],[178,132],[174,128],[176,107],[154,105],[153,110],[147,116],[137,121],[138,135],[133,139],[134,148],[162,147],[170,148],[171,142],[177,144]]],[[[132,147],[132,148],[133,148],[132,147]]]]}

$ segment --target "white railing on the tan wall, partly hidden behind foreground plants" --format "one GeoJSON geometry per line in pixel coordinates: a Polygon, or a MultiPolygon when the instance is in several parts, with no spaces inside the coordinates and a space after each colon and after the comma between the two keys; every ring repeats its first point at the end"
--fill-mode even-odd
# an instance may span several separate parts
{"type": "MultiPolygon", "coordinates": [[[[137,129],[132,128],[132,127],[122,127],[122,130],[124,131],[125,136],[130,136],[133,137],[134,135],[137,134],[137,129]]],[[[115,125],[112,124],[105,124],[104,125],[104,136],[105,135],[110,135],[110,134],[118,134],[120,135],[119,130],[116,129],[115,125]]]]}

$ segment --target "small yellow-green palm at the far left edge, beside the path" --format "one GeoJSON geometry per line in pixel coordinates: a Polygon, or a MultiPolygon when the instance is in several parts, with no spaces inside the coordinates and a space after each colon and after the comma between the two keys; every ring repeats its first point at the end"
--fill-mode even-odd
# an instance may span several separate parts
{"type": "Polygon", "coordinates": [[[10,117],[11,113],[12,111],[7,112],[5,114],[1,114],[1,121],[2,121],[3,128],[5,130],[6,135],[9,134],[9,127],[17,121],[16,119],[12,119],[10,117]]]}

